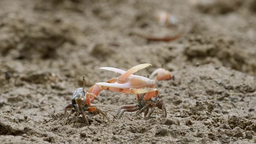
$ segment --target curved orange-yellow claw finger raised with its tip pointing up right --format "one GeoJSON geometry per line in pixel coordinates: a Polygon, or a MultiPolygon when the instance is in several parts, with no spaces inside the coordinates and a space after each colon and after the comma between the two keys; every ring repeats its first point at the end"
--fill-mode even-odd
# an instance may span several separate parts
{"type": "Polygon", "coordinates": [[[120,84],[124,84],[126,82],[126,79],[133,73],[138,72],[138,70],[141,70],[143,68],[146,68],[148,66],[152,66],[151,64],[139,64],[137,66],[134,66],[132,68],[130,68],[129,70],[127,70],[124,74],[122,74],[122,76],[120,76],[118,78],[118,82],[120,84]]]}

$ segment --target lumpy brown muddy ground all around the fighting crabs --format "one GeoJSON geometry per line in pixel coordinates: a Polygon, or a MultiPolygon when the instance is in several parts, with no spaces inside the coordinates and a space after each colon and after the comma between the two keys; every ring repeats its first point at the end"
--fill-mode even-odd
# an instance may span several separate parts
{"type": "Polygon", "coordinates": [[[0,0],[0,143],[256,143],[256,0],[0,0]],[[160,26],[158,12],[175,16],[160,26]],[[143,36],[173,37],[170,42],[143,36]],[[124,113],[133,94],[102,91],[96,113],[64,122],[76,88],[108,66],[170,70],[167,118],[124,113]]]}

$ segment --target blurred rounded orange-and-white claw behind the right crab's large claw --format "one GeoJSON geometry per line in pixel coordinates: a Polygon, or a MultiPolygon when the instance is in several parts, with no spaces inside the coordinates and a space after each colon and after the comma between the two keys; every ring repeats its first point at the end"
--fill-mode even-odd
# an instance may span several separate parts
{"type": "Polygon", "coordinates": [[[165,70],[164,68],[158,68],[156,70],[154,70],[154,72],[152,72],[152,74],[150,75],[150,79],[152,79],[154,77],[154,75],[156,75],[156,78],[154,78],[154,80],[170,80],[172,79],[172,74],[170,71],[165,70]],[[157,74],[157,75],[156,75],[157,74]]]}

